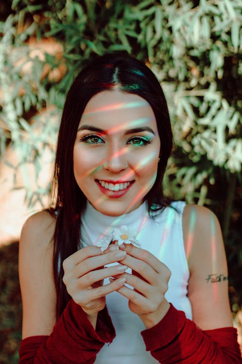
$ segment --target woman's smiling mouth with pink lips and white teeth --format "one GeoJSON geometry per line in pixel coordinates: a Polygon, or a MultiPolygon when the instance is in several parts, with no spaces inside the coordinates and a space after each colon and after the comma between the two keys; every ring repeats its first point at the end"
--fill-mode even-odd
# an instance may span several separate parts
{"type": "Polygon", "coordinates": [[[104,180],[95,180],[98,184],[99,189],[102,193],[110,198],[117,198],[125,195],[132,184],[135,181],[126,181],[126,182],[107,182],[104,180]]]}

